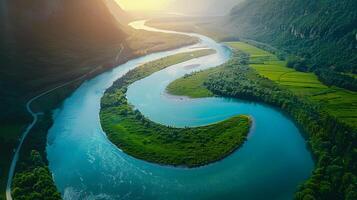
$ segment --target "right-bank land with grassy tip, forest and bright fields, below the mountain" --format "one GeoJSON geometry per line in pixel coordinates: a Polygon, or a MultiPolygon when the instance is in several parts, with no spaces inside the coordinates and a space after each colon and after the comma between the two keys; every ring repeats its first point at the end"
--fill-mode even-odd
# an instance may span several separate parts
{"type": "Polygon", "coordinates": [[[287,61],[255,46],[227,44],[235,51],[228,63],[186,75],[172,82],[168,92],[192,98],[216,94],[281,108],[301,125],[316,162],[312,176],[300,185],[295,198],[341,199],[345,195],[354,199],[356,93],[327,87],[315,74],[288,68],[287,61]]]}

